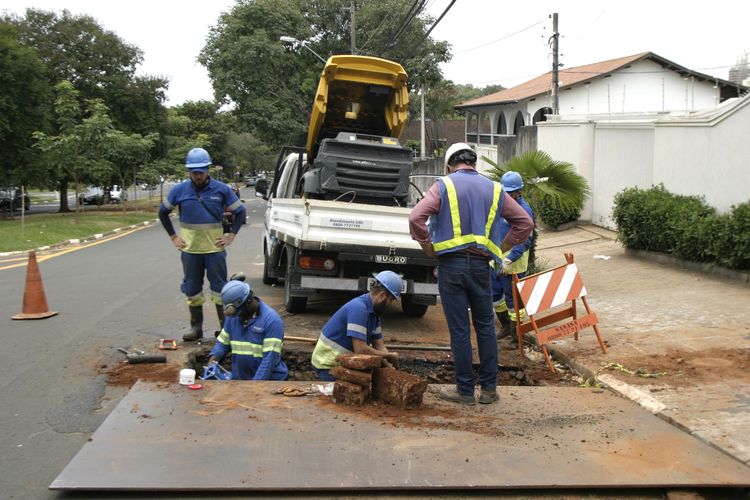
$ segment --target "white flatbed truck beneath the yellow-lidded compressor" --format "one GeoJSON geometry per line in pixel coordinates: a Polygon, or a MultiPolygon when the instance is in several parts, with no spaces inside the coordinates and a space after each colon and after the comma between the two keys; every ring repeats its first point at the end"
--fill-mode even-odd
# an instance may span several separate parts
{"type": "Polygon", "coordinates": [[[299,313],[321,291],[364,293],[373,273],[389,269],[404,279],[403,312],[423,316],[438,296],[437,261],[411,239],[411,209],[299,197],[305,160],[286,156],[270,191],[258,190],[268,200],[263,283],[283,281],[284,306],[299,313]]]}

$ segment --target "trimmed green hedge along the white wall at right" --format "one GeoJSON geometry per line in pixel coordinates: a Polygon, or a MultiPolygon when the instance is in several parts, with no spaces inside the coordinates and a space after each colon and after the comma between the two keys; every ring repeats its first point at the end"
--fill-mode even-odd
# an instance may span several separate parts
{"type": "Polygon", "coordinates": [[[659,185],[618,193],[613,215],[618,238],[628,248],[750,269],[750,202],[717,214],[702,198],[659,185]]]}

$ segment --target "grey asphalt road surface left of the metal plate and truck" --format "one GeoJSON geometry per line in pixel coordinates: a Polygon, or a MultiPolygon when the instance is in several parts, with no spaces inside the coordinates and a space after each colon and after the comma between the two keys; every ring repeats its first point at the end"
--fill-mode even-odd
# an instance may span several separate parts
{"type": "MultiPolygon", "coordinates": [[[[228,249],[229,269],[262,286],[265,202],[245,191],[248,224],[228,249]]],[[[26,267],[12,264],[0,262],[0,497],[58,498],[47,486],[124,395],[101,374],[105,365],[122,361],[116,347],[179,338],[184,331],[181,265],[159,224],[40,256],[47,302],[59,315],[13,321],[26,267]]],[[[211,312],[207,307],[208,328],[216,323],[211,312]]]]}

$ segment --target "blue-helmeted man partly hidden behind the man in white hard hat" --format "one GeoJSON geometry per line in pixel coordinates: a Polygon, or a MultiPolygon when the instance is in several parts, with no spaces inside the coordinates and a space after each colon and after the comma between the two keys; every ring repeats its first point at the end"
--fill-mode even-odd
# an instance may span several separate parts
{"type": "MultiPolygon", "coordinates": [[[[521,208],[523,208],[531,220],[535,220],[534,210],[531,209],[526,199],[522,194],[523,179],[518,172],[505,172],[500,178],[500,183],[503,185],[503,189],[508,195],[516,200],[521,208]]],[[[510,224],[503,220],[505,226],[504,231],[510,230],[510,224]]],[[[526,271],[529,268],[529,249],[531,248],[534,239],[534,233],[532,232],[523,243],[519,243],[510,249],[509,252],[503,254],[503,265],[497,266],[498,270],[492,275],[492,300],[495,309],[495,314],[498,320],[500,320],[500,331],[497,334],[497,338],[502,339],[509,337],[510,344],[514,347],[518,347],[518,339],[516,337],[516,311],[513,303],[513,274],[516,274],[519,278],[526,276],[526,271]]],[[[518,319],[523,320],[525,317],[524,309],[521,309],[518,314],[518,319]]]]}

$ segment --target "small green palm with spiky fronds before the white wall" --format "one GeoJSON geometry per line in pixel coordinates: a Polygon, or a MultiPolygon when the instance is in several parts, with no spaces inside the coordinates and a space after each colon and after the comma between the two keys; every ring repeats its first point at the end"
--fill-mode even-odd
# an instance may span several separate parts
{"type": "MultiPolygon", "coordinates": [[[[553,214],[572,214],[573,220],[578,218],[583,207],[583,202],[591,195],[589,184],[586,179],[578,174],[575,167],[568,162],[555,161],[549,154],[544,151],[527,151],[526,153],[514,156],[507,163],[498,165],[486,156],[482,159],[492,165],[489,169],[488,177],[500,182],[500,178],[505,172],[518,172],[523,179],[523,196],[534,209],[537,219],[554,219],[557,221],[562,218],[550,217],[553,214]]],[[[545,220],[552,226],[558,224],[545,220]]],[[[534,226],[534,236],[529,249],[529,270],[528,274],[541,271],[536,262],[536,240],[537,229],[534,226]]]]}

